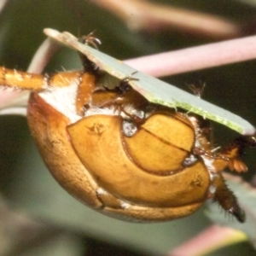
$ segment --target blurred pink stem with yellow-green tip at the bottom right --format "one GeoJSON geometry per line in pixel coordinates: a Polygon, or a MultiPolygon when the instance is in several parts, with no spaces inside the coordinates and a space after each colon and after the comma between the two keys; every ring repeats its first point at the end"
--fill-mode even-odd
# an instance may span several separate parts
{"type": "Polygon", "coordinates": [[[174,248],[166,256],[199,256],[210,253],[219,247],[244,240],[246,240],[246,236],[241,231],[212,224],[207,230],[174,248]]]}

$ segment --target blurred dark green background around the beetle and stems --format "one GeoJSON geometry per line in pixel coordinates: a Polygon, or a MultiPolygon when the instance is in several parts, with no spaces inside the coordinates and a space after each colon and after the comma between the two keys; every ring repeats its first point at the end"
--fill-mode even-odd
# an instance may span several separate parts
{"type": "MultiPolygon", "coordinates": [[[[124,23],[92,2],[9,0],[0,15],[0,65],[26,70],[32,55],[45,38],[45,27],[77,36],[96,31],[96,37],[102,40],[100,49],[120,60],[212,42],[209,38],[183,32],[131,32],[124,23]]],[[[171,3],[163,0],[151,2],[171,3]]],[[[253,24],[256,20],[256,1],[248,4],[246,1],[231,0],[179,0],[172,1],[172,4],[221,15],[240,23],[253,24]]],[[[76,52],[61,49],[46,72],[62,71],[63,67],[81,68],[76,52]]],[[[207,101],[229,109],[256,125],[255,68],[256,61],[247,61],[164,79],[183,90],[188,90],[187,84],[206,83],[204,98],[207,101]]],[[[189,218],[161,224],[131,224],[102,216],[74,200],[50,176],[32,142],[25,118],[4,116],[0,122],[0,192],[3,207],[7,204],[19,216],[31,219],[32,227],[36,225],[36,229],[25,229],[20,224],[21,217],[18,220],[15,218],[18,224],[13,222],[9,227],[16,227],[18,234],[12,237],[11,242],[4,240],[8,236],[0,236],[0,247],[10,247],[7,249],[10,253],[4,256],[164,255],[211,224],[204,216],[203,208],[189,218]]],[[[236,136],[235,132],[218,125],[215,130],[217,143],[228,143],[236,136]]],[[[256,170],[253,154],[255,150],[250,150],[245,156],[250,170],[244,175],[247,180],[253,178],[256,170]]],[[[5,212],[1,210],[1,214],[4,216],[5,212]]],[[[224,212],[219,210],[219,214],[224,212]]],[[[3,234],[9,235],[9,230],[6,230],[8,222],[3,220],[2,217],[3,234]]],[[[248,243],[226,247],[208,255],[238,256],[241,252],[255,255],[248,243]]]]}

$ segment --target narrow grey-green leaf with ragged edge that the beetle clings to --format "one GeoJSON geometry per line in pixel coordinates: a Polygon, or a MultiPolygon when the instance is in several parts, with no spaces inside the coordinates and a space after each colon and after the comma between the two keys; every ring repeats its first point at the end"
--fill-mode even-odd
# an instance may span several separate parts
{"type": "Polygon", "coordinates": [[[45,29],[44,32],[50,38],[54,38],[73,49],[79,50],[90,61],[95,62],[98,67],[113,77],[125,79],[132,74],[132,78],[137,80],[131,80],[129,84],[145,96],[149,102],[159,103],[170,108],[183,108],[188,112],[197,113],[205,119],[212,119],[241,134],[253,135],[255,132],[253,125],[236,114],[219,108],[171,84],[166,84],[160,79],[155,79],[145,73],[138,72],[136,69],[125,65],[122,61],[105,55],[97,49],[92,49],[88,45],[79,43],[78,38],[75,38],[68,32],[60,33],[49,28],[45,29]]]}

